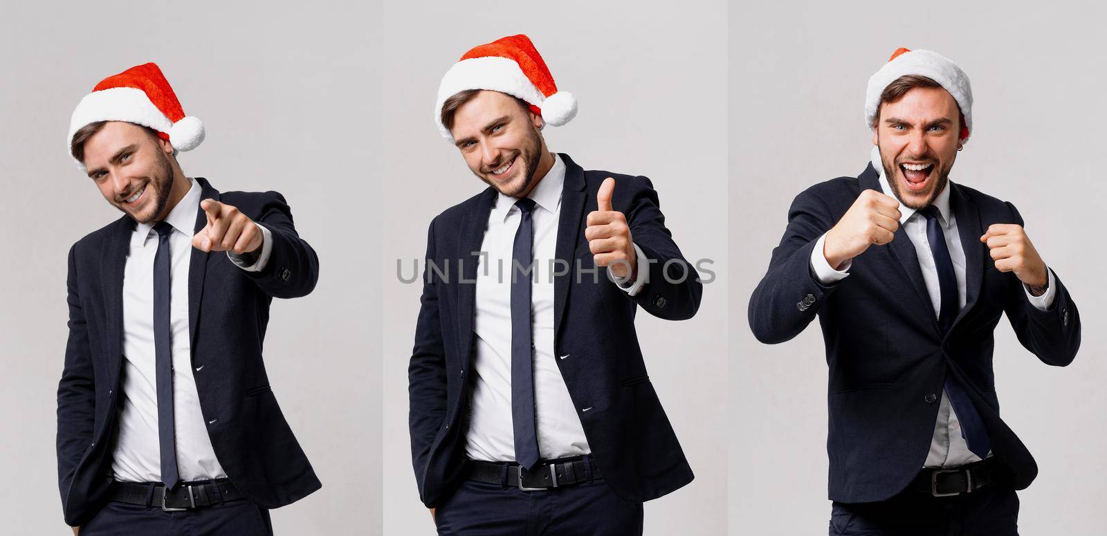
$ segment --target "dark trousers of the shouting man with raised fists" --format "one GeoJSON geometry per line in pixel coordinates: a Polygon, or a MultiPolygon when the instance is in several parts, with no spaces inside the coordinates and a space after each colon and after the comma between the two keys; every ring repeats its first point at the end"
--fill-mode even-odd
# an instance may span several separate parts
{"type": "Polygon", "coordinates": [[[879,503],[830,508],[830,536],[1017,536],[1018,496],[991,486],[952,497],[904,491],[879,503]]]}

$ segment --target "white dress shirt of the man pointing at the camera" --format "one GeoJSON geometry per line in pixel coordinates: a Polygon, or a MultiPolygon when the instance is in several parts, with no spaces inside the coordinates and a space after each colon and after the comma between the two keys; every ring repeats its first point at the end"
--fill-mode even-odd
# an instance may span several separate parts
{"type": "MultiPolygon", "coordinates": [[[[174,424],[177,467],[183,482],[227,476],[216,460],[200,411],[193,378],[188,339],[188,265],[193,228],[199,210],[200,186],[195,181],[185,197],[165,217],[169,234],[169,330],[173,359],[174,424]]],[[[269,229],[254,265],[228,255],[245,270],[260,271],[272,250],[269,229]]],[[[154,352],[154,256],[158,237],[154,224],[137,224],[123,276],[123,378],[118,435],[112,473],[122,482],[161,482],[162,458],[157,432],[157,374],[154,352]]]]}

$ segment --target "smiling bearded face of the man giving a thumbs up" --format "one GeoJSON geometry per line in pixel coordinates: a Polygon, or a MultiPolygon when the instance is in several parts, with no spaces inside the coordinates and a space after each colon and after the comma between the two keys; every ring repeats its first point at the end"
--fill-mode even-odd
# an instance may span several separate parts
{"type": "Polygon", "coordinates": [[[552,166],[541,116],[514,96],[480,91],[457,107],[451,133],[469,171],[500,194],[524,197],[552,166]]]}

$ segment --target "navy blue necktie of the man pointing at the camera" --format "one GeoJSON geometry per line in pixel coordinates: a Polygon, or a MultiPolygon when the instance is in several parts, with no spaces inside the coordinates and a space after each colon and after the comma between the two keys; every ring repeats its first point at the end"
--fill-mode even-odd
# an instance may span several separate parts
{"type": "Polygon", "coordinates": [[[154,255],[154,354],[157,379],[157,444],[162,454],[162,483],[169,489],[177,485],[177,446],[173,439],[173,352],[169,327],[169,235],[165,221],[154,226],[157,254],[154,255]]]}

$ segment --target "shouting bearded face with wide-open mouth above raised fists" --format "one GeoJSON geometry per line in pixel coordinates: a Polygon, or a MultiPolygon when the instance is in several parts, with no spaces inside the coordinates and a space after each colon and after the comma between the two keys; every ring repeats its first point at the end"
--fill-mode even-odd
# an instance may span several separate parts
{"type": "Polygon", "coordinates": [[[923,208],[945,187],[963,142],[960,116],[956,101],[940,86],[913,87],[880,105],[872,143],[900,203],[923,208]]]}

